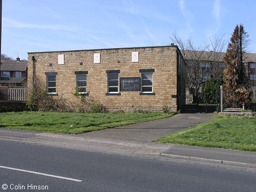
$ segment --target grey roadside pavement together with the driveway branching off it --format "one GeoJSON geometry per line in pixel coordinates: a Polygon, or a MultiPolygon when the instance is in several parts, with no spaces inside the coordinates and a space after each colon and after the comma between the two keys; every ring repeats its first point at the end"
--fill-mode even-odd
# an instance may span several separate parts
{"type": "Polygon", "coordinates": [[[213,114],[177,114],[166,119],[77,135],[0,128],[0,139],[60,148],[153,155],[256,169],[256,153],[254,152],[151,142],[164,135],[210,121],[214,117],[213,114]]]}

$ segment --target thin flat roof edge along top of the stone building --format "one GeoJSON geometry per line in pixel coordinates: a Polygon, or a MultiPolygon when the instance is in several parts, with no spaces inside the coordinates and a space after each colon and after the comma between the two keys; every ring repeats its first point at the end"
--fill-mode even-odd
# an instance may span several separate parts
{"type": "Polygon", "coordinates": [[[142,48],[158,48],[158,47],[176,47],[177,45],[165,45],[165,46],[144,46],[144,47],[120,47],[120,48],[105,48],[105,49],[89,49],[89,50],[67,50],[67,51],[39,51],[39,52],[27,52],[31,53],[59,53],[59,52],[75,52],[75,51],[102,51],[102,50],[120,50],[120,49],[142,49],[142,48]]]}

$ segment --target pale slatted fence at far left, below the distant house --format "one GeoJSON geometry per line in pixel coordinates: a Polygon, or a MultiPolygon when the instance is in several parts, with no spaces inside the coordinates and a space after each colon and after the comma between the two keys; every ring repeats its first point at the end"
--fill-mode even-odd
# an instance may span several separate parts
{"type": "Polygon", "coordinates": [[[26,88],[0,87],[0,100],[9,101],[25,101],[28,97],[28,90],[26,88]]]}

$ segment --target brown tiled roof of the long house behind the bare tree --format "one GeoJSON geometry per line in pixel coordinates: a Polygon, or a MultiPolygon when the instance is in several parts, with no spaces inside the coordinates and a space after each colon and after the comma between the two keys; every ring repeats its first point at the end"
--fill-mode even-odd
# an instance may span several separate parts
{"type": "MultiPolygon", "coordinates": [[[[204,61],[214,61],[214,54],[211,51],[188,51],[188,50],[181,50],[181,53],[183,55],[183,58],[188,60],[195,59],[195,55],[197,55],[198,58],[204,61]]],[[[216,52],[215,55],[217,57],[220,57],[220,62],[224,62],[224,56],[226,53],[223,52],[216,52]]],[[[256,53],[247,53],[246,54],[246,60],[247,62],[256,62],[256,53]]]]}

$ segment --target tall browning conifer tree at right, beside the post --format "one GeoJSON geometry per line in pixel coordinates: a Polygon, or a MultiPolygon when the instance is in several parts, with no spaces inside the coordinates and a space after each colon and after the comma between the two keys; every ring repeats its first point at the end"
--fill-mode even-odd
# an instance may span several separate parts
{"type": "Polygon", "coordinates": [[[243,25],[236,26],[224,57],[226,69],[224,73],[223,97],[228,107],[241,107],[250,103],[250,81],[245,73],[245,59],[249,35],[243,25]]]}

